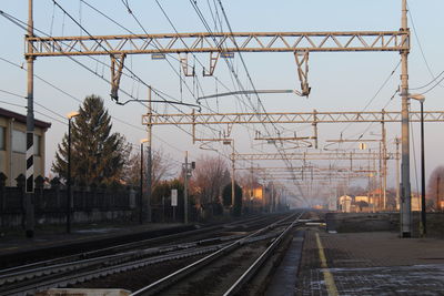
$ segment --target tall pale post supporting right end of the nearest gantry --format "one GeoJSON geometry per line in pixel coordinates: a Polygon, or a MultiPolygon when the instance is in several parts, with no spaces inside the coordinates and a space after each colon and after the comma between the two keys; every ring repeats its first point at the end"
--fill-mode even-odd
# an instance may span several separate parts
{"type": "MultiPolygon", "coordinates": [[[[408,32],[407,0],[402,0],[401,31],[408,32]]],[[[403,35],[403,43],[408,43],[408,35],[403,35]]],[[[410,126],[408,126],[408,49],[401,50],[401,237],[412,236],[412,196],[410,184],[410,126]]]]}

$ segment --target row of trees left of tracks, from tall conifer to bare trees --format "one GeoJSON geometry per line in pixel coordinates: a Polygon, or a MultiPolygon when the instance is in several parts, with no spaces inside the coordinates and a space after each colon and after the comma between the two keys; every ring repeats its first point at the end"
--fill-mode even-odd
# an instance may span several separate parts
{"type": "MultiPolygon", "coordinates": [[[[58,145],[51,171],[65,182],[68,172],[68,133],[58,145]]],[[[89,188],[98,185],[140,186],[141,153],[133,150],[124,135],[112,132],[112,121],[98,95],[89,95],[79,108],[79,115],[71,123],[71,183],[89,188]]],[[[147,162],[144,161],[144,165],[147,162]]],[[[202,155],[190,178],[190,204],[212,214],[231,206],[231,175],[228,163],[220,156],[202,155]]],[[[143,180],[147,170],[143,169],[143,180]]],[[[172,188],[183,198],[183,172],[163,151],[152,153],[152,198],[159,204],[169,197],[172,188]]],[[[235,184],[235,214],[241,213],[242,190],[235,184]]]]}

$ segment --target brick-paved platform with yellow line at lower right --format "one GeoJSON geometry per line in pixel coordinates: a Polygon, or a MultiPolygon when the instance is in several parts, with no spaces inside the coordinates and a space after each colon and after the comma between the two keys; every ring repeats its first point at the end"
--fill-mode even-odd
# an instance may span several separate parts
{"type": "Polygon", "coordinates": [[[444,239],[307,229],[296,295],[444,295],[444,239]]]}

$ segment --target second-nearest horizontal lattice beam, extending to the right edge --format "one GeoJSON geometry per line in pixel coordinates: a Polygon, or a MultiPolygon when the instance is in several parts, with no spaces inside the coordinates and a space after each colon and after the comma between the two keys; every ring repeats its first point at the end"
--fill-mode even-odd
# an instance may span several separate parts
{"type": "MultiPolygon", "coordinates": [[[[245,124],[245,123],[349,123],[401,122],[401,112],[302,112],[302,113],[190,113],[153,114],[152,125],[245,124]]],[[[410,112],[410,121],[421,122],[421,112],[410,112]]],[[[444,122],[444,111],[425,111],[425,122],[444,122]]],[[[148,123],[143,115],[142,123],[148,123]]]]}

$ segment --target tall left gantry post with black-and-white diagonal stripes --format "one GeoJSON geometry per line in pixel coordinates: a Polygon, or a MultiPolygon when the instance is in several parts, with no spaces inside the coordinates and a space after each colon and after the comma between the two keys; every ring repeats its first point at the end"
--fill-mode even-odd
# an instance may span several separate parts
{"type": "MultiPolygon", "coordinates": [[[[28,1],[28,35],[33,38],[33,17],[32,0],[28,1]]],[[[28,53],[33,53],[32,43],[28,43],[28,53]]],[[[28,65],[28,112],[27,112],[27,161],[26,161],[26,235],[31,238],[34,236],[34,57],[27,55],[28,65]]]]}

